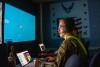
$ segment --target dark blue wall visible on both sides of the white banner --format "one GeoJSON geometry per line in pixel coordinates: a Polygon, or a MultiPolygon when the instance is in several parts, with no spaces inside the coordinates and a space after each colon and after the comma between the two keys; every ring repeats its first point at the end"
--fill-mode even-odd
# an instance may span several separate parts
{"type": "MultiPolygon", "coordinates": [[[[61,1],[60,1],[61,2],[61,1]]],[[[85,38],[86,41],[90,41],[89,47],[100,47],[100,30],[99,30],[99,19],[100,19],[100,5],[99,0],[91,1],[88,0],[89,10],[89,24],[90,24],[90,38],[85,38]]],[[[80,8],[81,9],[81,8],[80,8]]],[[[51,23],[50,23],[50,3],[43,3],[43,37],[44,44],[46,46],[56,47],[59,46],[63,39],[51,39],[51,23]]]]}

